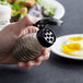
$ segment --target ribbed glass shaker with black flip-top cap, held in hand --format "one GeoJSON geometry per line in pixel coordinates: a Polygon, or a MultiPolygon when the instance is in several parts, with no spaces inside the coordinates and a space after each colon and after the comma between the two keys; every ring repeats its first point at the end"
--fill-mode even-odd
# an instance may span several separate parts
{"type": "Polygon", "coordinates": [[[39,31],[17,39],[12,49],[13,57],[23,62],[35,60],[42,54],[43,48],[48,48],[55,44],[56,33],[52,27],[61,24],[62,21],[51,17],[38,21],[34,26],[38,27],[39,31]]]}

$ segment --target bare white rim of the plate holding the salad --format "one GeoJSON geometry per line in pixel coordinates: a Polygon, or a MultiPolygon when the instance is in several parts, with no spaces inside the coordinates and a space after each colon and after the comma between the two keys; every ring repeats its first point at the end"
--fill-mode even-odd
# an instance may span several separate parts
{"type": "Polygon", "coordinates": [[[57,11],[56,11],[55,16],[54,16],[55,19],[63,17],[66,11],[64,11],[64,7],[60,2],[58,2],[56,0],[43,0],[43,1],[45,1],[48,4],[57,8],[57,11]]]}

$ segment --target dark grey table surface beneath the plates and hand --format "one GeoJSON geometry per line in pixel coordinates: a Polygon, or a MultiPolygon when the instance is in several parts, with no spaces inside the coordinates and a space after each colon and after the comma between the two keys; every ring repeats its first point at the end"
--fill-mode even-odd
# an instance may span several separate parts
{"type": "MultiPolygon", "coordinates": [[[[57,29],[57,36],[83,33],[83,0],[58,0],[66,8],[64,24],[57,29]]],[[[39,67],[22,70],[16,66],[0,66],[0,83],[83,83],[83,61],[58,57],[39,67]]]]}

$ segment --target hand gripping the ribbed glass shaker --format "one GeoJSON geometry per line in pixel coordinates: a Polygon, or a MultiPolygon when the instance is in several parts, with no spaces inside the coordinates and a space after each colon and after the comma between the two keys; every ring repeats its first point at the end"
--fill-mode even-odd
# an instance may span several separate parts
{"type": "Polygon", "coordinates": [[[19,37],[27,33],[36,33],[37,27],[32,26],[38,21],[37,17],[26,15],[21,21],[12,23],[0,32],[0,63],[17,64],[20,68],[32,68],[42,63],[49,58],[50,49],[43,49],[40,57],[34,61],[17,62],[11,55],[11,49],[19,37]]]}

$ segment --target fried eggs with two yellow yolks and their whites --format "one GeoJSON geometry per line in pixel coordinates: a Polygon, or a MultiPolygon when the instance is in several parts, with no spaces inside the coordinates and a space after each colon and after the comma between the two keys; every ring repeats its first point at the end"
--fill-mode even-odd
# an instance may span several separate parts
{"type": "Polygon", "coordinates": [[[68,37],[67,42],[61,46],[61,51],[73,57],[83,57],[83,37],[68,37]]]}

